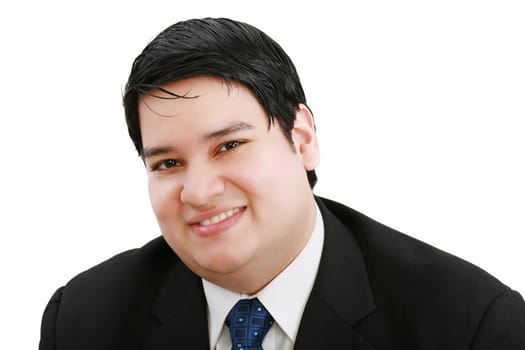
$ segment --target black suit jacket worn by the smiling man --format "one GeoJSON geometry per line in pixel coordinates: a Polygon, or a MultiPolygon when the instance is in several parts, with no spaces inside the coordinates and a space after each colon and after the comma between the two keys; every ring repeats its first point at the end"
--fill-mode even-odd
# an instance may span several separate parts
{"type": "MultiPolygon", "coordinates": [[[[525,349],[522,297],[481,269],[317,198],[318,276],[295,349],[525,349]]],[[[201,280],[162,238],[72,279],[41,350],[209,349],[201,280]]]]}

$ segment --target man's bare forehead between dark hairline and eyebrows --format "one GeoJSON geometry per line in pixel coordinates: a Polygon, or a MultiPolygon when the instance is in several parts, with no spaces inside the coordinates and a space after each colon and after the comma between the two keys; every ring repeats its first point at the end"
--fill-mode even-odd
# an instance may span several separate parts
{"type": "Polygon", "coordinates": [[[267,130],[266,112],[251,91],[240,84],[198,77],[161,88],[139,100],[144,149],[175,144],[190,146],[210,140],[207,135],[233,130],[232,125],[250,126],[237,130],[267,130]]]}

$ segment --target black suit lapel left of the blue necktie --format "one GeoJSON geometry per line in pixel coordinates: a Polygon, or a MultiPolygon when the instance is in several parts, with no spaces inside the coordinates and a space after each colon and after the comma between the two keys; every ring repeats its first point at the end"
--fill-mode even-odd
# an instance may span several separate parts
{"type": "Polygon", "coordinates": [[[159,324],[145,349],[206,349],[207,306],[201,279],[182,262],[176,263],[153,304],[159,324]]]}

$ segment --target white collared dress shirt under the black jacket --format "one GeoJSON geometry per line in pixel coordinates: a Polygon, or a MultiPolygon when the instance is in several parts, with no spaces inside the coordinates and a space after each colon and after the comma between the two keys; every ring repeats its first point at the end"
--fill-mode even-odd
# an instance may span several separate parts
{"type": "Polygon", "coordinates": [[[324,226],[316,204],[314,229],[299,255],[256,295],[235,293],[202,280],[208,303],[208,332],[211,350],[230,350],[231,339],[224,323],[231,308],[240,299],[259,298],[274,318],[264,337],[264,350],[292,350],[304,307],[317,276],[323,250],[324,226]]]}

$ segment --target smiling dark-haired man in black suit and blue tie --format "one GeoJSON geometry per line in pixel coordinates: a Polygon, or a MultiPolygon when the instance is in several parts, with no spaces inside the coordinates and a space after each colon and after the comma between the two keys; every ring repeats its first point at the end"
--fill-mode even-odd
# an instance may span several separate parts
{"type": "Polygon", "coordinates": [[[258,29],[167,28],[124,106],[162,237],[60,288],[40,349],[525,349],[517,292],[314,196],[311,111],[258,29]]]}

